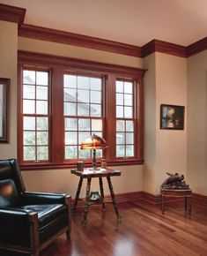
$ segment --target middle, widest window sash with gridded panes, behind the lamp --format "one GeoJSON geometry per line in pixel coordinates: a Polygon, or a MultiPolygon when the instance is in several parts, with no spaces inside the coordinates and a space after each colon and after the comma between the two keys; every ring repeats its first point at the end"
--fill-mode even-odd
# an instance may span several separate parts
{"type": "MultiPolygon", "coordinates": [[[[81,150],[83,140],[93,133],[103,136],[102,79],[64,74],[65,159],[92,158],[91,150],[81,150]]],[[[101,157],[97,150],[97,157],[101,157]]]]}

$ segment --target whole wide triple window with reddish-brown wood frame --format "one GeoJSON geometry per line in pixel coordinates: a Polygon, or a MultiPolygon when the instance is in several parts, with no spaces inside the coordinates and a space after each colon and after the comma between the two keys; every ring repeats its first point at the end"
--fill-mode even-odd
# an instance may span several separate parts
{"type": "Polygon", "coordinates": [[[21,169],[90,166],[93,133],[107,140],[98,162],[143,163],[144,70],[19,51],[18,75],[21,169]]]}

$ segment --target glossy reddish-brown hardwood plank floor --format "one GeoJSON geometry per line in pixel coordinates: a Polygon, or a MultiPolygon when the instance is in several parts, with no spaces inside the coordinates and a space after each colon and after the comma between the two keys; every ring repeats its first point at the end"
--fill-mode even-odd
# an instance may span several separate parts
{"type": "Polygon", "coordinates": [[[165,215],[144,201],[122,203],[119,209],[122,222],[117,223],[111,205],[105,214],[101,207],[90,207],[86,227],[79,209],[70,241],[65,235],[57,238],[41,256],[207,256],[207,207],[193,204],[191,217],[181,203],[168,204],[165,215]]]}

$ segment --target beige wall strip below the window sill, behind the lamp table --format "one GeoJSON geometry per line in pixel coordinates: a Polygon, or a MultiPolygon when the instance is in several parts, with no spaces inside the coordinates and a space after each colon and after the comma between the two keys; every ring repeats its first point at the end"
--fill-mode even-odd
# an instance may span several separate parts
{"type": "MultiPolygon", "coordinates": [[[[115,193],[142,191],[143,166],[117,166],[122,170],[121,177],[112,177],[115,193]]],[[[70,169],[49,169],[22,172],[26,190],[40,192],[67,192],[75,197],[79,177],[70,174],[70,169]]],[[[109,194],[107,179],[104,178],[104,191],[109,194]]],[[[86,181],[83,183],[81,197],[85,197],[86,181]]],[[[99,179],[92,179],[92,191],[99,191],[99,179]]]]}

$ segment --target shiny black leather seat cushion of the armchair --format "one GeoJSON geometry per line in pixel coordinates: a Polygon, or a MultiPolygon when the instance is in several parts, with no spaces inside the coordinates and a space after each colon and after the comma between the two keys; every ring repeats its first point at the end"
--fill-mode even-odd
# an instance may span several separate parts
{"type": "Polygon", "coordinates": [[[38,214],[40,230],[67,213],[67,206],[63,204],[28,205],[22,208],[38,214]]]}

